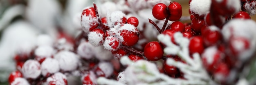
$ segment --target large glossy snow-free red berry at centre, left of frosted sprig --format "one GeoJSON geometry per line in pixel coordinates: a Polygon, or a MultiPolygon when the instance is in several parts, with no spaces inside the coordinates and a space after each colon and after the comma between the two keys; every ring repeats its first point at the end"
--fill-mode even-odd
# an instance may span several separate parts
{"type": "Polygon", "coordinates": [[[157,61],[164,55],[164,50],[159,42],[148,42],[144,47],[144,55],[148,60],[157,61]]]}

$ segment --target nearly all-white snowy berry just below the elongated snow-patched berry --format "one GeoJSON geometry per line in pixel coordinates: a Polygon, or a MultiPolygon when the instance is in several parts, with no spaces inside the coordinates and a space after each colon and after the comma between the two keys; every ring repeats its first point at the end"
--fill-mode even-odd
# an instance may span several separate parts
{"type": "Polygon", "coordinates": [[[103,36],[103,34],[99,34],[96,31],[91,31],[88,34],[88,40],[92,45],[99,46],[104,42],[103,36]]]}

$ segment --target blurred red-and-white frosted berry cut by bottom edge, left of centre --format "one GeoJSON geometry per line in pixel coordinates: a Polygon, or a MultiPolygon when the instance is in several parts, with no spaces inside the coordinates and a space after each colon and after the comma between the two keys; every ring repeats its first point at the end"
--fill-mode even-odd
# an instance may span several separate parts
{"type": "Polygon", "coordinates": [[[83,85],[97,85],[97,78],[94,72],[90,71],[81,77],[83,85]]]}

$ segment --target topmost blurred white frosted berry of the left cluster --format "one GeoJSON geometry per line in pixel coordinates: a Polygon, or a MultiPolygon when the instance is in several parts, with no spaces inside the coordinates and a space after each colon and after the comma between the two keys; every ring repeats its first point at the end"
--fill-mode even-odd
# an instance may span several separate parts
{"type": "Polygon", "coordinates": [[[36,44],[37,46],[52,46],[54,43],[54,40],[51,38],[51,36],[47,35],[47,34],[41,34],[39,36],[37,36],[37,40],[36,40],[36,44]]]}

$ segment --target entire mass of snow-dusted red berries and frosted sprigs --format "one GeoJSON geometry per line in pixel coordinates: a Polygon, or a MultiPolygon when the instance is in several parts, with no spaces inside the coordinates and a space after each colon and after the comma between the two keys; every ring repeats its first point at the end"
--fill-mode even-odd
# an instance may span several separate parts
{"type": "Polygon", "coordinates": [[[10,85],[234,85],[256,50],[254,0],[190,0],[189,23],[178,2],[101,2],[114,7],[83,9],[75,38],[58,30],[18,52],[10,85]]]}

